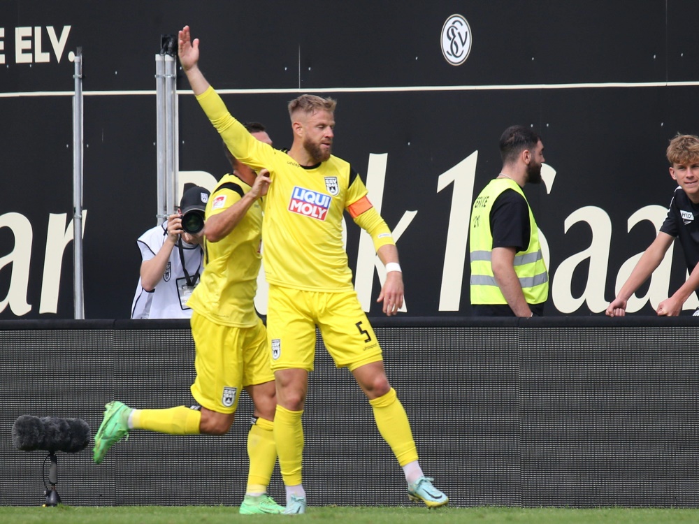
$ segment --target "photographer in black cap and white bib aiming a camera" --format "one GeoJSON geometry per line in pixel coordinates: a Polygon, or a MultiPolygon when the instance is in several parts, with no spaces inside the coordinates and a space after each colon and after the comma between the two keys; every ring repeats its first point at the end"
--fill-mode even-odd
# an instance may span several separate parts
{"type": "Polygon", "coordinates": [[[131,319],[189,319],[187,300],[204,267],[203,216],[209,191],[189,187],[178,213],[138,238],[143,262],[131,319]]]}

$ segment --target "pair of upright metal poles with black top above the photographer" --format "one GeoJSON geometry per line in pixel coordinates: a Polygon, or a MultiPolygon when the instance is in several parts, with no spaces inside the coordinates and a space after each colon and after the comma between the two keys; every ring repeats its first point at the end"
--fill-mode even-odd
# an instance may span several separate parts
{"type": "Polygon", "coordinates": [[[161,49],[155,55],[157,105],[157,220],[158,224],[178,206],[178,98],[177,37],[161,36],[161,49]]]}

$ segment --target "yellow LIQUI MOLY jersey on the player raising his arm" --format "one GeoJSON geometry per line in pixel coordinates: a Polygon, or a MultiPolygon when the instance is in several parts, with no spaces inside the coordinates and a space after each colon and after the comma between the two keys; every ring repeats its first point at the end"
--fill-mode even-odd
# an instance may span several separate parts
{"type": "Polygon", "coordinates": [[[250,135],[212,87],[196,99],[238,161],[270,172],[262,249],[267,281],[306,291],[354,289],[343,245],[345,209],[369,231],[376,249],[394,243],[385,222],[362,200],[367,190],[359,175],[334,156],[310,168],[300,166],[250,135]],[[361,209],[353,210],[355,203],[361,209]]]}

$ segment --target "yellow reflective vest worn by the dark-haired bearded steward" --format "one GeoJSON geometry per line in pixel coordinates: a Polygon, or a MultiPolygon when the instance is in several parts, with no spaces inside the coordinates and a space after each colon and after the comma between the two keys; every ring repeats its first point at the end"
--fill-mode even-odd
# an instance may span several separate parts
{"type": "MultiPolygon", "coordinates": [[[[526,202],[526,196],[517,182],[509,178],[496,178],[481,191],[473,203],[470,221],[470,261],[471,261],[471,303],[472,304],[507,304],[493,277],[493,233],[490,230],[490,212],[493,203],[500,194],[514,189],[521,194],[526,202]]],[[[539,230],[534,221],[534,215],[527,202],[529,210],[529,245],[526,251],[514,254],[514,272],[519,278],[519,284],[524,291],[528,304],[540,304],[549,296],[549,275],[539,244],[539,230]]]]}

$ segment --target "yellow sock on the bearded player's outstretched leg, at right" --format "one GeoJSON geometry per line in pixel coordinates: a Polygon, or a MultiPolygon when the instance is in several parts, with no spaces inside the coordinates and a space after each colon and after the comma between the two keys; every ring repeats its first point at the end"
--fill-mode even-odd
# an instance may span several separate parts
{"type": "Polygon", "coordinates": [[[391,391],[385,395],[369,400],[369,404],[374,411],[374,419],[379,432],[391,446],[398,459],[398,464],[403,467],[413,460],[417,460],[417,448],[415,440],[412,439],[408,415],[405,414],[405,409],[403,409],[401,401],[398,400],[396,390],[391,388],[391,391]]]}

